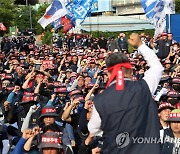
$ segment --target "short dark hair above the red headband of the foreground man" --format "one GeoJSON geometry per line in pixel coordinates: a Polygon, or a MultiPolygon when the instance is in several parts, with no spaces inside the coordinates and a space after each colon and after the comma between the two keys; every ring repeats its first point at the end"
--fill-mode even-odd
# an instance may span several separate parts
{"type": "Polygon", "coordinates": [[[124,53],[113,53],[106,59],[106,66],[111,67],[116,64],[129,62],[127,56],[124,53]]]}

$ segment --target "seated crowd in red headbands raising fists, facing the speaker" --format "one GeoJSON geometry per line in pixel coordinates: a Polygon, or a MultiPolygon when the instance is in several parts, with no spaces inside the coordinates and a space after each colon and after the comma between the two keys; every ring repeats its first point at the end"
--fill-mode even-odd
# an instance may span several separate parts
{"type": "MultiPolygon", "coordinates": [[[[150,127],[159,127],[162,154],[179,154],[180,142],[174,142],[180,139],[179,43],[171,33],[157,38],[142,33],[140,39],[164,67],[158,86],[150,88],[161,127],[150,127]]],[[[102,133],[91,133],[97,120],[91,115],[94,98],[100,99],[109,84],[108,58],[125,55],[133,81],[143,79],[149,64],[153,65],[143,51],[139,52],[139,46],[134,45],[133,52],[128,46],[124,33],[108,39],[80,34],[54,36],[52,45],[42,46],[36,45],[33,36],[4,37],[0,50],[1,153],[102,153],[108,143],[103,145],[102,133]]],[[[153,79],[156,70],[150,73],[153,79]]]]}

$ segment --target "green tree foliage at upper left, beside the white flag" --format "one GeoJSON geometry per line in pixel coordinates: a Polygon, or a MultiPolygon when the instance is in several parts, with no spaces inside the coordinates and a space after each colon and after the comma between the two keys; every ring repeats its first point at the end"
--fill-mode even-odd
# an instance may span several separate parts
{"type": "MultiPolygon", "coordinates": [[[[32,6],[16,5],[15,0],[0,0],[0,22],[2,22],[6,28],[6,33],[9,32],[9,27],[17,26],[21,30],[27,30],[30,25],[30,11],[32,19],[32,27],[37,34],[41,34],[44,31],[50,31],[51,27],[48,26],[45,30],[38,23],[38,20],[45,13],[49,4],[43,4],[38,10],[34,10],[32,6]]],[[[5,32],[0,31],[0,34],[5,32]]]]}

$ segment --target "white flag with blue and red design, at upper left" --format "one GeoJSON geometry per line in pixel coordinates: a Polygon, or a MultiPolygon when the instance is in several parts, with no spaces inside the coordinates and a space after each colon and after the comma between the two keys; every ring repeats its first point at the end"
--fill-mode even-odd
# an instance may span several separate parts
{"type": "Polygon", "coordinates": [[[46,9],[45,14],[38,20],[38,23],[45,28],[53,21],[65,16],[67,9],[64,0],[54,0],[52,4],[46,9]]]}

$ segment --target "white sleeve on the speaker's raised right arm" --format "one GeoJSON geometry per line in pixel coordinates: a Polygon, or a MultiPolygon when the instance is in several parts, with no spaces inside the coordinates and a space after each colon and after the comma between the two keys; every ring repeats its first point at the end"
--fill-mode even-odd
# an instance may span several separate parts
{"type": "Polygon", "coordinates": [[[156,91],[156,88],[159,84],[164,68],[161,65],[157,55],[148,46],[146,46],[145,44],[142,44],[138,48],[138,50],[140,54],[142,54],[142,56],[146,60],[148,66],[150,67],[144,73],[143,79],[147,82],[149,89],[151,91],[151,94],[153,94],[156,91]]]}

